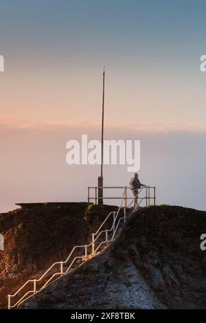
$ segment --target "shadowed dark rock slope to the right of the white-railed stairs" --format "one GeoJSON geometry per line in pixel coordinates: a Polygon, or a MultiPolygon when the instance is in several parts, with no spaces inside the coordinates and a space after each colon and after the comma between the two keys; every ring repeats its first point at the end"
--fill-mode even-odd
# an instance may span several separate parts
{"type": "Polygon", "coordinates": [[[142,208],[98,256],[62,276],[23,309],[206,309],[206,212],[142,208]]]}

